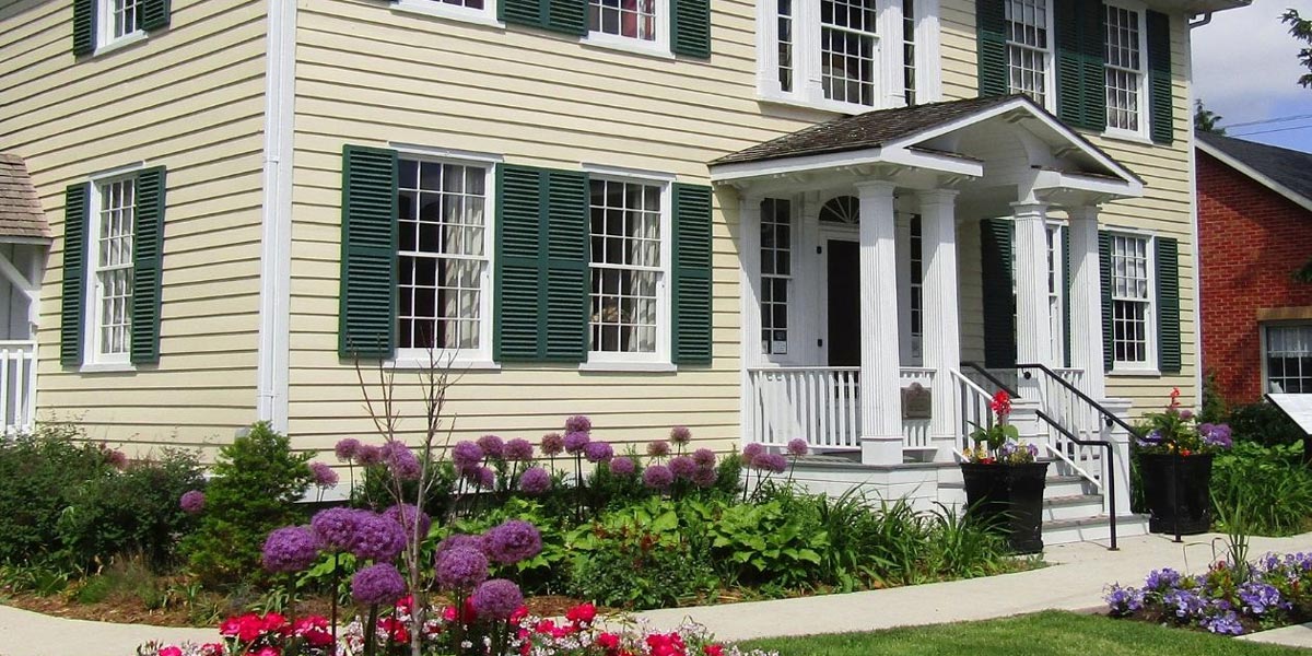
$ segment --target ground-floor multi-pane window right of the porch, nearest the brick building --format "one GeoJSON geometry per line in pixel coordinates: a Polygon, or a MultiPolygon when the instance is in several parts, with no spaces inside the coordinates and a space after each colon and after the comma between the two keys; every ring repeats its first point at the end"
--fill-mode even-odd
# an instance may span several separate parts
{"type": "Polygon", "coordinates": [[[1149,362],[1151,264],[1148,237],[1111,236],[1111,345],[1117,365],[1149,362]]]}

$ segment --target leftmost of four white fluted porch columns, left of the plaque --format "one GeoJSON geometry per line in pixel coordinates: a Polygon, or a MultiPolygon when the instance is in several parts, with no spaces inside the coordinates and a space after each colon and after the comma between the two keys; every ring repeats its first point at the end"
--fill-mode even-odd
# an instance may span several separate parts
{"type": "MultiPolygon", "coordinates": [[[[901,463],[893,184],[857,184],[861,199],[861,462],[901,463]]],[[[857,327],[853,327],[857,328],[857,327]]]]}

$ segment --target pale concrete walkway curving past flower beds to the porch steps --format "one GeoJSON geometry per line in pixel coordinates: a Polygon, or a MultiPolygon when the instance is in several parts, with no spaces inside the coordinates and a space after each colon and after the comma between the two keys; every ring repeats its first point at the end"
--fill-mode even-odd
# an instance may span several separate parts
{"type": "MultiPolygon", "coordinates": [[[[1031,572],[851,594],[656,610],[640,617],[657,628],[673,628],[691,618],[720,638],[744,640],[989,619],[1047,609],[1084,610],[1102,605],[1109,583],[1141,585],[1148,571],[1161,567],[1202,571],[1223,551],[1220,537],[1212,534],[1187,537],[1183,544],[1161,535],[1143,535],[1123,539],[1115,552],[1094,543],[1048,547],[1044,559],[1052,565],[1031,572]]],[[[1253,538],[1250,556],[1266,551],[1312,551],[1312,533],[1253,538]]],[[[1282,644],[1312,646],[1312,628],[1284,631],[1290,638],[1281,639],[1273,632],[1282,644]]],[[[136,646],[151,639],[210,642],[216,635],[215,630],[102,625],[0,606],[0,656],[131,656],[136,646]]]]}

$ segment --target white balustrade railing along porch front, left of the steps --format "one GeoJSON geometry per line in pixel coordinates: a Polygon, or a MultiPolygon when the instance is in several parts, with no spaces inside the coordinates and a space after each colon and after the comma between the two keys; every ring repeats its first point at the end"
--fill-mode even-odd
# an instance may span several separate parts
{"type": "MultiPolygon", "coordinates": [[[[800,437],[825,450],[861,449],[859,367],[750,367],[747,371],[749,442],[785,445],[800,437]]],[[[930,388],[934,371],[903,367],[903,387],[930,388]]],[[[929,420],[903,421],[903,445],[929,446],[929,420]]]]}

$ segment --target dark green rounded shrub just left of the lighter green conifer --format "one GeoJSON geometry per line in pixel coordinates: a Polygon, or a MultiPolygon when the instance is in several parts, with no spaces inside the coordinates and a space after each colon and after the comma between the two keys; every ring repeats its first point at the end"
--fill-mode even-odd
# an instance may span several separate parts
{"type": "Polygon", "coordinates": [[[92,568],[126,552],[165,567],[178,535],[194,523],[178,508],[178,497],[203,484],[194,453],[164,450],[157,461],[134,462],[122,472],[112,471],[71,489],[56,525],[59,539],[80,567],[92,568]]]}

